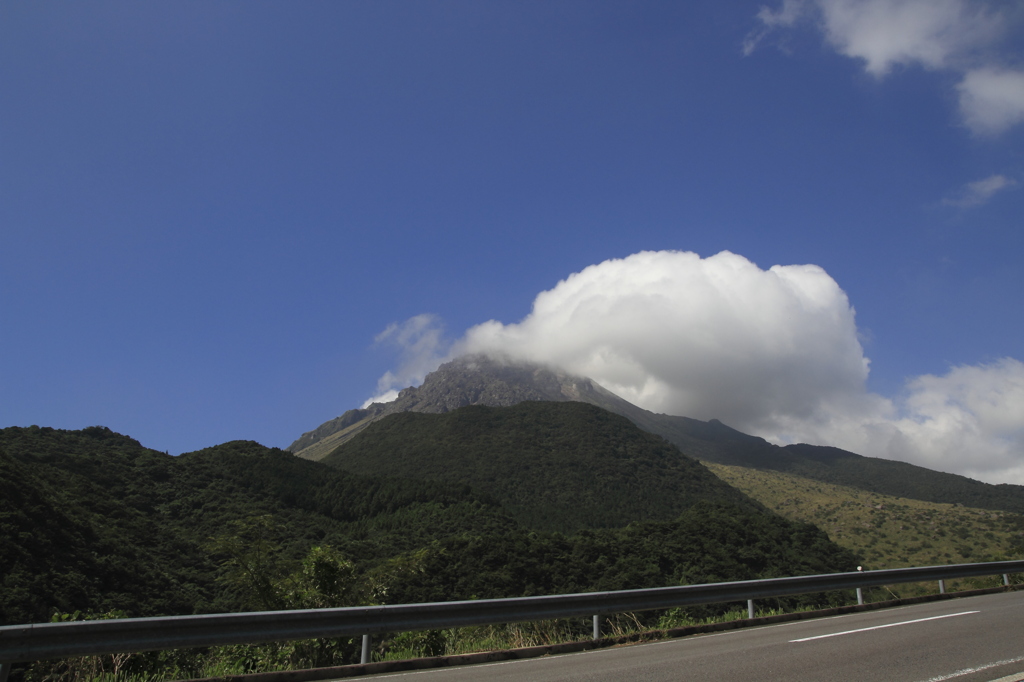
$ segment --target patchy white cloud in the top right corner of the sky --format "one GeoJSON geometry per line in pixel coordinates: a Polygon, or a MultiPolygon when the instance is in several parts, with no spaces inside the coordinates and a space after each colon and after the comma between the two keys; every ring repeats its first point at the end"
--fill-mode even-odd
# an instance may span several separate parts
{"type": "Polygon", "coordinates": [[[743,53],[776,30],[813,20],[837,52],[878,78],[912,66],[958,74],[964,122],[976,134],[997,134],[1024,121],[1024,73],[1013,65],[1020,55],[1000,49],[1019,17],[968,0],[783,0],[758,12],[743,53]]]}

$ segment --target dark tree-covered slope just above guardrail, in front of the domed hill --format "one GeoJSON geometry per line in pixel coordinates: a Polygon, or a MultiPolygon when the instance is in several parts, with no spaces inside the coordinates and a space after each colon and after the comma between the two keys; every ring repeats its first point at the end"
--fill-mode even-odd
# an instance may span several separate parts
{"type": "Polygon", "coordinates": [[[701,502],[674,521],[584,530],[518,530],[435,544],[395,603],[632,590],[854,570],[856,557],[806,523],[701,502]]]}

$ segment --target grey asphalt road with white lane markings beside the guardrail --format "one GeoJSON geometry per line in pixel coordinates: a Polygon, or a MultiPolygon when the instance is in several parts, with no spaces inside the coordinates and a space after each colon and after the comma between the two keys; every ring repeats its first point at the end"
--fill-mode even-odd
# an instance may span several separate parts
{"type": "Polygon", "coordinates": [[[1017,682],[1024,680],[1024,592],[373,679],[391,678],[1017,682]]]}

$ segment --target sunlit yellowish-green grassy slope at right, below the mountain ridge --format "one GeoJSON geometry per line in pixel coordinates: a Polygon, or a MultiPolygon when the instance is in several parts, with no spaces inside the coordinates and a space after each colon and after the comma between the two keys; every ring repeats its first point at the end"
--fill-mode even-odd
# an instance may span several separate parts
{"type": "Polygon", "coordinates": [[[775,471],[707,466],[782,516],[814,523],[860,555],[868,569],[1021,556],[1020,514],[896,498],[775,471]]]}

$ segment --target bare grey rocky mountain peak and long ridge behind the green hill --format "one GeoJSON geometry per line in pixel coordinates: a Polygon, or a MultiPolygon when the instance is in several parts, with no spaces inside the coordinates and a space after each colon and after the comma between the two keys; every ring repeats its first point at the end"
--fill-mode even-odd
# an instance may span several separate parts
{"type": "Polygon", "coordinates": [[[983,483],[925,467],[863,457],[838,447],[806,443],[779,446],[718,420],[656,414],[596,382],[551,368],[467,355],[441,365],[418,388],[398,398],[350,410],[289,445],[299,457],[321,460],[341,443],[389,415],[443,414],[472,404],[508,407],[524,400],[581,401],[626,417],[698,460],[792,473],[837,485],[925,502],[1024,513],[1024,486],[983,483]]]}

